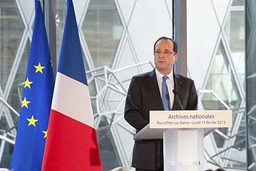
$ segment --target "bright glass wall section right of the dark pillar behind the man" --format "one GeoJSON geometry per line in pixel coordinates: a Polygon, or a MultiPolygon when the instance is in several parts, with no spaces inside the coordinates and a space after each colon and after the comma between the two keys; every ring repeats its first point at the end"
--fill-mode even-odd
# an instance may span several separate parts
{"type": "Polygon", "coordinates": [[[187,3],[188,71],[198,88],[199,108],[232,110],[232,128],[205,137],[205,167],[246,170],[245,2],[187,3]]]}

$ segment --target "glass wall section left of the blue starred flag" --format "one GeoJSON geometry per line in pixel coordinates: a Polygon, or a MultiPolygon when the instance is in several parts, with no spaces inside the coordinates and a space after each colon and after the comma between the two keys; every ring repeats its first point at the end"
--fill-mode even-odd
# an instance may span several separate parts
{"type": "Polygon", "coordinates": [[[16,1],[0,1],[0,135],[11,141],[0,140],[0,167],[7,168],[16,134],[16,129],[13,128],[19,119],[14,110],[19,112],[21,104],[31,36],[31,14],[28,11],[26,16],[21,16],[22,7],[24,6],[19,6],[16,1]],[[11,105],[14,110],[7,108],[4,103],[11,105]]]}

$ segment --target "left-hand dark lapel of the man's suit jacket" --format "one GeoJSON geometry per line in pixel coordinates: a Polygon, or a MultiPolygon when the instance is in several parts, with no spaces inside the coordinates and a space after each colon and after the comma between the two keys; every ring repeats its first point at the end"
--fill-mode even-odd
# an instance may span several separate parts
{"type": "Polygon", "coordinates": [[[148,73],[148,86],[150,88],[150,92],[152,93],[153,97],[155,98],[155,102],[159,107],[160,110],[163,110],[163,103],[160,96],[160,90],[158,87],[158,81],[155,76],[155,69],[148,73]]]}

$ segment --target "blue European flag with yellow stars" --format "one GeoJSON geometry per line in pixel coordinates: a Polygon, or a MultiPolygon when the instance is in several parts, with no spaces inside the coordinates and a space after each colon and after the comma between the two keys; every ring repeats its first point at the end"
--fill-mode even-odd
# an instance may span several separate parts
{"type": "Polygon", "coordinates": [[[51,110],[54,76],[40,1],[35,0],[35,11],[12,171],[41,170],[51,110]]]}

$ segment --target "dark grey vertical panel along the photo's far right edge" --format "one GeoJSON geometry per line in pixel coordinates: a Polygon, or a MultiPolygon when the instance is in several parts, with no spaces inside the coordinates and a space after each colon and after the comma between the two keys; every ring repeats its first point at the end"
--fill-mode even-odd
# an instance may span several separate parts
{"type": "Polygon", "coordinates": [[[256,170],[256,1],[245,1],[247,170],[256,170]]]}

